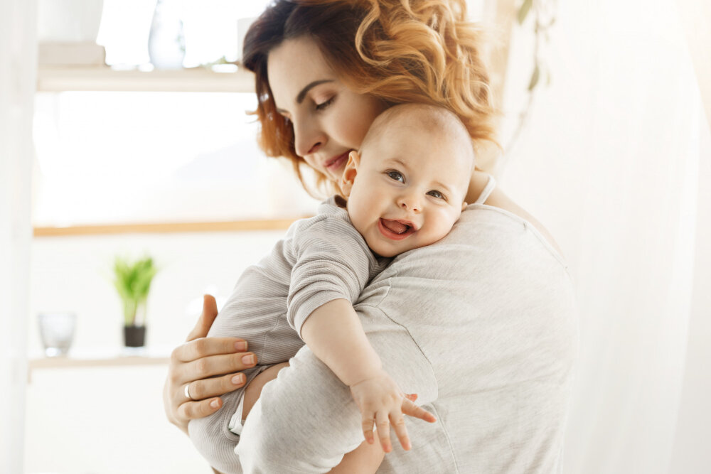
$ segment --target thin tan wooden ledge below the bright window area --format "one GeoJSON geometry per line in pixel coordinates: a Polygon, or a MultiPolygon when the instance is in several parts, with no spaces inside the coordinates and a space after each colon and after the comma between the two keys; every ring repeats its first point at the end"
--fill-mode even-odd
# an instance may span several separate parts
{"type": "MultiPolygon", "coordinates": [[[[309,216],[302,216],[309,217],[309,216]]],[[[33,237],[70,235],[154,234],[173,232],[234,232],[250,230],[287,230],[302,217],[272,220],[237,220],[225,222],[175,222],[161,224],[76,225],[70,227],[34,227],[33,237]]]]}

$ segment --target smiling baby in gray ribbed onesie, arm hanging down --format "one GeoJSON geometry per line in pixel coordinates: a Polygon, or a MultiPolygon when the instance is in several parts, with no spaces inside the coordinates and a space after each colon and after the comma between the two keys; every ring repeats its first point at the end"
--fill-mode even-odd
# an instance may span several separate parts
{"type": "Polygon", "coordinates": [[[245,270],[210,329],[209,336],[244,338],[259,360],[244,371],[247,384],[223,396],[223,409],[188,425],[213,468],[241,472],[234,449],[248,422],[242,409],[253,403],[245,398],[258,397],[249,385],[269,367],[286,366],[304,343],[350,387],[368,443],[377,424],[383,451],[390,451],[392,424],[407,450],[402,414],[435,421],[383,370],[353,304],[390,257],[449,233],[466,207],[473,167],[471,138],[447,109],[402,104],[375,119],[343,171],[347,200],[334,196],[315,217],[294,222],[271,254],[245,270]]]}

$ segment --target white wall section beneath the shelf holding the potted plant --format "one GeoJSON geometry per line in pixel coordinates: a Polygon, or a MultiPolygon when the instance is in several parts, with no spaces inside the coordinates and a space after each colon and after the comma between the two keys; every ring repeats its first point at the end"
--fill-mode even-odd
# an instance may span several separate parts
{"type": "Polygon", "coordinates": [[[166,420],[161,402],[166,370],[33,371],[24,472],[212,474],[188,437],[166,420]]]}

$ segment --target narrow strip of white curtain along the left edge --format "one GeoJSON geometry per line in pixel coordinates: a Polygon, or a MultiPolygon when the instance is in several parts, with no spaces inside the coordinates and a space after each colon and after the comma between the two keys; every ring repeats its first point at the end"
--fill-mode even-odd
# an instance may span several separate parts
{"type": "Polygon", "coordinates": [[[36,1],[0,1],[0,472],[22,473],[36,1]]]}

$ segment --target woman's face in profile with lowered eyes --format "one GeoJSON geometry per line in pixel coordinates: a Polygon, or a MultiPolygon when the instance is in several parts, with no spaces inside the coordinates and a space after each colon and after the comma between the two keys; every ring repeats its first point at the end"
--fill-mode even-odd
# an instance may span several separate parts
{"type": "Polygon", "coordinates": [[[274,48],[267,58],[267,71],[277,112],[294,125],[296,154],[337,181],[348,153],[360,148],[385,104],[348,90],[316,42],[306,36],[274,48]]]}

